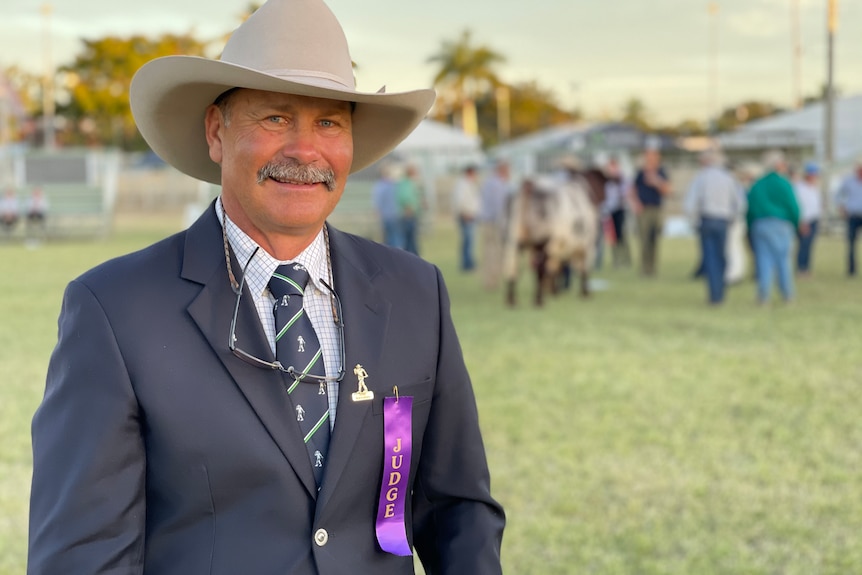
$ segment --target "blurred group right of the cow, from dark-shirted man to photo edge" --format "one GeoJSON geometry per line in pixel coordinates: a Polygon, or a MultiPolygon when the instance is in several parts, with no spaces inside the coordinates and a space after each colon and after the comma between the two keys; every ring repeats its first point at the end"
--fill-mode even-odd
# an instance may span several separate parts
{"type": "MultiPolygon", "coordinates": [[[[641,266],[647,276],[655,273],[657,241],[652,230],[661,216],[644,217],[644,199],[654,204],[658,199],[660,206],[663,194],[659,187],[645,193],[642,182],[649,170],[658,174],[659,182],[666,179],[666,172],[656,167],[656,157],[656,153],[644,155],[629,196],[638,216],[641,266]]],[[[700,169],[686,191],[683,208],[699,236],[700,262],[694,277],[705,280],[708,304],[720,305],[726,286],[744,278],[745,243],[753,256],[757,304],[767,305],[776,285],[785,302],[793,301],[795,278],[812,274],[815,240],[824,216],[820,167],[809,161],[794,171],[779,150],[764,154],[760,170],[750,164],[732,169],[717,150],[701,153],[699,160],[700,169]]],[[[847,275],[854,276],[855,243],[862,222],[862,158],[841,183],[835,200],[847,223],[847,275]]]]}

